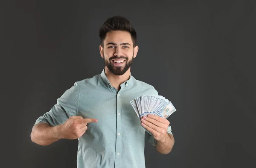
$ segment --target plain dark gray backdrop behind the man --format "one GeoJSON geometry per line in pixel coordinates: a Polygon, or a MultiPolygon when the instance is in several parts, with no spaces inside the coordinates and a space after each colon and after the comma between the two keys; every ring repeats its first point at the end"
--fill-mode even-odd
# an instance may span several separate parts
{"type": "MultiPolygon", "coordinates": [[[[168,155],[145,145],[147,168],[256,166],[256,1],[8,0],[1,11],[1,129],[5,167],[74,168],[77,140],[30,140],[35,120],[75,81],[101,73],[99,27],[131,21],[132,75],[177,108],[168,155]]],[[[2,166],[1,166],[2,167],[2,166]]]]}

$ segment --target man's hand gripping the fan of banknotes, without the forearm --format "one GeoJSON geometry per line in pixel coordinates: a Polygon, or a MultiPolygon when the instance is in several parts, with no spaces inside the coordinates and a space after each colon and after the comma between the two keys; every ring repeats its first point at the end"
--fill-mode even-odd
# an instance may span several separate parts
{"type": "Polygon", "coordinates": [[[143,116],[140,121],[141,125],[150,131],[157,141],[164,141],[168,137],[167,128],[170,122],[167,119],[148,114],[148,116],[143,116]]]}

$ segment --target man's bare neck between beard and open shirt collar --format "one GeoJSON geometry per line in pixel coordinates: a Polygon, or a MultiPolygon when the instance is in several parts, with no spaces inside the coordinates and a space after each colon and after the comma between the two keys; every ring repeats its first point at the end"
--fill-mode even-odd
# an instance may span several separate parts
{"type": "Polygon", "coordinates": [[[120,90],[120,84],[124,83],[130,78],[131,67],[123,75],[114,75],[112,72],[105,67],[105,74],[108,78],[108,81],[111,83],[112,87],[115,87],[116,90],[120,90]]]}

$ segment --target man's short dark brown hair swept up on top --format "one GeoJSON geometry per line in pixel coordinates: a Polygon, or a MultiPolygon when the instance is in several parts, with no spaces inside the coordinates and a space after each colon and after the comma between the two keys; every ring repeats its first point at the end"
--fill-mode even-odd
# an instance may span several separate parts
{"type": "Polygon", "coordinates": [[[102,27],[99,29],[99,37],[100,37],[100,43],[101,46],[104,46],[104,40],[106,38],[106,35],[108,32],[111,32],[113,30],[122,30],[129,32],[131,34],[131,39],[133,42],[133,46],[136,46],[137,41],[137,34],[133,26],[131,26],[131,23],[129,20],[127,20],[125,17],[122,16],[113,16],[109,17],[108,20],[106,20],[102,27]]]}

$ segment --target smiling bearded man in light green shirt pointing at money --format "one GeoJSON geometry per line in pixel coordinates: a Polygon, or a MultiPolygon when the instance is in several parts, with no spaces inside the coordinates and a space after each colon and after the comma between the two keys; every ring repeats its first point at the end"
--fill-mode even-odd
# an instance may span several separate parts
{"type": "Polygon", "coordinates": [[[174,145],[169,121],[154,115],[140,120],[130,104],[137,96],[157,91],[131,76],[139,47],[129,21],[108,18],[99,36],[104,70],[76,82],[58,98],[35,122],[32,142],[49,145],[58,139],[78,139],[78,168],[145,168],[143,127],[151,132],[147,137],[157,151],[168,154],[174,145]]]}

